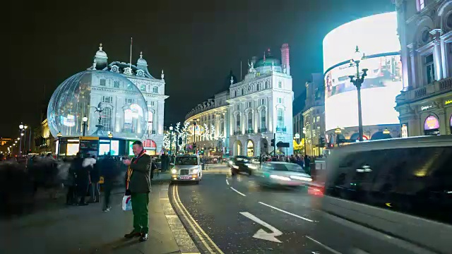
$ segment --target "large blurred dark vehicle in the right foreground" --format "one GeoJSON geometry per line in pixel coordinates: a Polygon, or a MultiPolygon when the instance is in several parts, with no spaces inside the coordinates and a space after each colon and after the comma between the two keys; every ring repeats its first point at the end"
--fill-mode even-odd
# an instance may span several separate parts
{"type": "Polygon", "coordinates": [[[346,145],[326,172],[309,188],[315,241],[338,253],[452,253],[451,135],[346,145]]]}

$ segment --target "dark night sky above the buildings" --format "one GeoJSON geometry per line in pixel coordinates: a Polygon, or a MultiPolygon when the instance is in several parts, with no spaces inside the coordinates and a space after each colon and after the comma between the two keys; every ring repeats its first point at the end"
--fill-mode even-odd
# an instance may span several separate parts
{"type": "Polygon", "coordinates": [[[280,57],[285,42],[295,97],[302,95],[310,74],[322,72],[322,40],[330,30],[395,9],[391,0],[66,2],[10,3],[0,136],[15,136],[20,121],[36,126],[54,89],[92,65],[100,42],[109,62],[128,62],[133,37],[132,62],[143,51],[155,78],[164,69],[168,125],[218,92],[230,70],[239,77],[241,60],[244,75],[247,59],[267,48],[280,57]]]}

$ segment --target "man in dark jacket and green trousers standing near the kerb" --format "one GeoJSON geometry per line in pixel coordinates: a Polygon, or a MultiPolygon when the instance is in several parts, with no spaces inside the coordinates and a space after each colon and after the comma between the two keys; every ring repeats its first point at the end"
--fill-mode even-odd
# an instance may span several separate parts
{"type": "Polygon", "coordinates": [[[130,193],[133,211],[133,231],[124,237],[133,238],[140,237],[140,241],[148,240],[149,232],[149,193],[150,180],[152,179],[152,171],[155,165],[151,162],[150,156],[145,154],[143,143],[135,141],[132,146],[132,160],[124,160],[124,164],[129,166],[127,171],[126,193],[130,193]]]}

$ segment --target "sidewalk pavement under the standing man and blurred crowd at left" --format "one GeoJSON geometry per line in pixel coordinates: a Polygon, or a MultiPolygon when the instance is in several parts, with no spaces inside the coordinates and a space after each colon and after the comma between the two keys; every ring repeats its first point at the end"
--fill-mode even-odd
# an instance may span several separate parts
{"type": "Polygon", "coordinates": [[[132,212],[121,209],[122,189],[112,194],[112,210],[100,203],[37,212],[0,222],[0,253],[199,253],[168,199],[169,174],[153,182],[149,202],[149,239],[124,238],[132,212]],[[169,219],[170,218],[170,219],[169,219]]]}

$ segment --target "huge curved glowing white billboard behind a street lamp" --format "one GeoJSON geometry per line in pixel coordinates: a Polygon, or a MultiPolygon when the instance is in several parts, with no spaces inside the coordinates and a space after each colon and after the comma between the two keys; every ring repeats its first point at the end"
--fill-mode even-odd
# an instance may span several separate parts
{"type": "MultiPolygon", "coordinates": [[[[364,126],[399,123],[396,96],[403,89],[396,13],[354,20],[331,31],[323,40],[326,130],[358,126],[357,89],[350,82],[355,47],[367,58],[359,71],[369,69],[361,87],[364,126]]],[[[360,73],[361,75],[362,73],[360,73]]]]}

